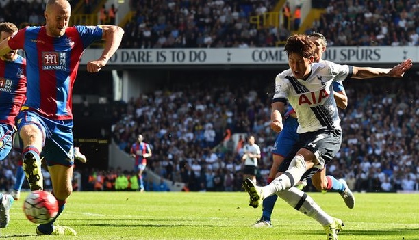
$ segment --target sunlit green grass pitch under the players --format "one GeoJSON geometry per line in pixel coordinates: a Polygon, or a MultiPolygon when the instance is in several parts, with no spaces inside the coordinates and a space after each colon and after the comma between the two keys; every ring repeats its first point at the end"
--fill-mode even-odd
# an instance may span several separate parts
{"type": "MultiPolygon", "coordinates": [[[[355,193],[354,209],[339,194],[309,195],[344,221],[340,240],[419,239],[419,194],[355,193]]],[[[249,228],[262,206],[251,208],[244,192],[75,192],[57,222],[75,228],[77,237],[36,237],[36,225],[23,215],[25,196],[12,206],[0,239],[326,239],[320,224],[280,199],[273,228],[249,228]]]]}

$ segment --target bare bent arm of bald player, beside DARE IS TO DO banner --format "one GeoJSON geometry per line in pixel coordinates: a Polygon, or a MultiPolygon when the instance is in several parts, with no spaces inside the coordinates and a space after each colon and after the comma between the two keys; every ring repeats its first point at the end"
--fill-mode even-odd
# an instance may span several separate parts
{"type": "Polygon", "coordinates": [[[102,39],[105,40],[105,48],[99,59],[88,62],[88,72],[99,72],[107,64],[107,61],[118,49],[124,35],[124,30],[118,26],[101,25],[101,28],[103,29],[102,39]]]}

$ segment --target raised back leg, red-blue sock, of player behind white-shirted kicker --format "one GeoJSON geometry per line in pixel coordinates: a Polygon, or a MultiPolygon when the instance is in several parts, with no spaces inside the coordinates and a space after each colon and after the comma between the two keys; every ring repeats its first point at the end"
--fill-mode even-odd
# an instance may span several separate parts
{"type": "Polygon", "coordinates": [[[334,176],[326,176],[326,166],[312,177],[313,186],[322,193],[327,191],[337,191],[342,196],[346,206],[353,209],[355,206],[355,196],[349,189],[344,179],[336,179],[334,176]]]}

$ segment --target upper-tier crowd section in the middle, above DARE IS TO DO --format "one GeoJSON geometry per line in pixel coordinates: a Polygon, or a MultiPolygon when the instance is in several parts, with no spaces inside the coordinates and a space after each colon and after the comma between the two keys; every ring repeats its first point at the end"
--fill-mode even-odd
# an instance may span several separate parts
{"type": "Polygon", "coordinates": [[[125,25],[125,48],[275,46],[269,29],[258,30],[251,16],[275,1],[135,1],[136,16],[125,25]]]}

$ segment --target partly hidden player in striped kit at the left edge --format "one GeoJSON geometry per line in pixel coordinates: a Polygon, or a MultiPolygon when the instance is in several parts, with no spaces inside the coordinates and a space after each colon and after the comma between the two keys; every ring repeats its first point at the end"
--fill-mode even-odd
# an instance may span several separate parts
{"type": "MultiPolygon", "coordinates": [[[[18,28],[13,23],[0,23],[0,41],[16,34],[18,28]]],[[[26,59],[17,54],[17,50],[9,51],[0,57],[0,161],[12,150],[12,135],[16,131],[14,118],[25,101],[26,93],[26,59]]],[[[22,181],[25,178],[23,168],[22,181]]],[[[0,228],[9,223],[9,210],[14,202],[10,194],[0,193],[0,228]]]]}

